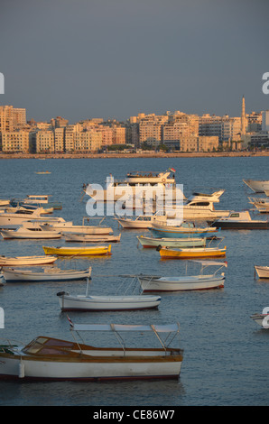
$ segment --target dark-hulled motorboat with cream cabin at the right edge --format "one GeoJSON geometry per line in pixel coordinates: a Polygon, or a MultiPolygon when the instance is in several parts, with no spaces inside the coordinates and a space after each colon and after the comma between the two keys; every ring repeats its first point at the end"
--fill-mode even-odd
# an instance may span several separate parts
{"type": "Polygon", "coordinates": [[[222,230],[267,230],[268,221],[263,219],[252,219],[249,211],[231,212],[228,217],[219,218],[212,226],[222,230]]]}

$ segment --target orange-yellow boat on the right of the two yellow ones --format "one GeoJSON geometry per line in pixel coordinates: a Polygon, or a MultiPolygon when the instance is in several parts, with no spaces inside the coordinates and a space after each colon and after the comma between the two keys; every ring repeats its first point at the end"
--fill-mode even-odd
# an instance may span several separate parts
{"type": "MultiPolygon", "coordinates": [[[[159,250],[157,248],[157,250],[159,250]]],[[[191,247],[189,249],[170,249],[162,247],[159,250],[162,259],[194,259],[194,258],[216,258],[226,255],[226,246],[215,247],[191,247]]]]}

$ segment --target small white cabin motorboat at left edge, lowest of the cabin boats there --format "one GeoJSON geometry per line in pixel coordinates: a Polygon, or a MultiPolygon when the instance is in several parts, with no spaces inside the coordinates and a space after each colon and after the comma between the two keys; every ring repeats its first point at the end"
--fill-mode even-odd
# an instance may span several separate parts
{"type": "Polygon", "coordinates": [[[25,221],[22,226],[18,226],[16,229],[12,230],[1,230],[0,234],[4,239],[10,238],[20,238],[20,239],[55,239],[60,238],[61,233],[54,229],[50,231],[43,230],[42,227],[37,222],[25,221]]]}

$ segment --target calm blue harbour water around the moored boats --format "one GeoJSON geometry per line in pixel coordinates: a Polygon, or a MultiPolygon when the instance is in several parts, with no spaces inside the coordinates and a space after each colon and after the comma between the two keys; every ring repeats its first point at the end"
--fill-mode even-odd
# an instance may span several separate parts
{"type": "MultiPolygon", "coordinates": [[[[244,178],[268,180],[267,158],[186,159],[82,159],[2,160],[0,198],[22,198],[27,194],[51,194],[63,208],[54,215],[81,224],[86,215],[83,183],[103,184],[109,173],[122,178],[128,171],[176,170],[184,194],[193,190],[226,189],[218,208],[249,207],[244,178]],[[35,171],[51,171],[37,175],[35,171]]],[[[249,193],[250,194],[250,193],[249,193]]],[[[115,234],[115,220],[107,218],[115,234]]],[[[136,235],[122,231],[120,244],[112,245],[112,256],[60,260],[65,268],[92,266],[92,294],[115,294],[130,281],[104,275],[185,272],[185,261],[161,261],[155,250],[137,247],[136,235]],[[124,286],[121,286],[124,284],[124,286]]],[[[71,313],[74,322],[88,323],[181,323],[184,360],[178,382],[139,383],[0,383],[1,405],[88,406],[181,406],[268,405],[269,331],[249,318],[269,306],[269,281],[255,280],[254,265],[269,264],[267,231],[223,232],[227,245],[227,280],[222,290],[162,294],[158,310],[134,312],[71,313]]],[[[48,241],[61,245],[64,241],[48,241]]],[[[42,242],[0,239],[0,254],[43,254],[42,242]]],[[[194,265],[192,265],[194,266],[194,265]]],[[[191,271],[191,268],[189,268],[191,271]]],[[[197,272],[198,269],[194,269],[197,272]]],[[[85,282],[9,283],[0,288],[0,306],[5,309],[2,337],[29,342],[35,336],[70,339],[69,324],[60,313],[56,293],[85,292],[85,282]]],[[[136,289],[138,287],[136,286],[136,289]]],[[[93,341],[98,345],[99,340],[93,341]]]]}

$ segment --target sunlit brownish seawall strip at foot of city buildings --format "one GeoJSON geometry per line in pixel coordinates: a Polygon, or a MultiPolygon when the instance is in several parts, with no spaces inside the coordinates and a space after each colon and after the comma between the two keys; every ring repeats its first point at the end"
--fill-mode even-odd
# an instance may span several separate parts
{"type": "Polygon", "coordinates": [[[150,153],[0,153],[0,159],[127,159],[127,158],[237,158],[269,156],[269,152],[150,152],[150,153]]]}

